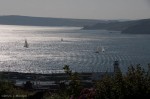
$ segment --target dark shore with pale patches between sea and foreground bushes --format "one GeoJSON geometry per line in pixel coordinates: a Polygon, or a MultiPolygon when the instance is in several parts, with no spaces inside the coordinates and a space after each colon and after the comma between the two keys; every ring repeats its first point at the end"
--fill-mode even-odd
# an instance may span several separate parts
{"type": "MultiPolygon", "coordinates": [[[[90,88],[96,80],[100,80],[106,72],[79,73],[80,81],[84,87],[90,88]]],[[[112,72],[108,72],[112,75],[112,72]]],[[[19,72],[0,72],[1,81],[10,81],[16,87],[24,88],[27,82],[33,84],[32,90],[58,90],[60,84],[68,85],[69,75],[66,73],[35,74],[19,72]]]]}

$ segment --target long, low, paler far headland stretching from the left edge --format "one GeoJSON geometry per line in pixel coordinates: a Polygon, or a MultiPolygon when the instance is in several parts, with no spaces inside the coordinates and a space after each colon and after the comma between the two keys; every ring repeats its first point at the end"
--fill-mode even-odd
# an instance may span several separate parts
{"type": "Polygon", "coordinates": [[[94,25],[99,22],[101,23],[105,21],[92,19],[49,18],[19,15],[0,16],[0,24],[2,25],[83,27],[85,25],[94,25]]]}

